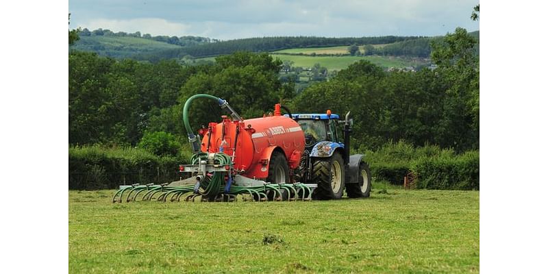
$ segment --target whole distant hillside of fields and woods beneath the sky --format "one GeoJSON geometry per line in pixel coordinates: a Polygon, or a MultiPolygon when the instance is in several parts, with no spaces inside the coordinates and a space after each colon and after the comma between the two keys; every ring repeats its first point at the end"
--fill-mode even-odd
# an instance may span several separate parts
{"type": "MultiPolygon", "coordinates": [[[[96,31],[94,31],[95,33],[96,31]]],[[[105,31],[108,32],[108,31],[105,31]]],[[[479,31],[470,32],[479,41],[479,31]]],[[[194,39],[192,36],[186,36],[194,39]]],[[[173,37],[176,38],[176,37],[173,37]]],[[[425,66],[432,40],[436,37],[382,36],[362,38],[323,37],[265,37],[228,41],[192,40],[193,44],[183,47],[169,42],[169,37],[142,38],[135,36],[81,35],[70,49],[94,51],[112,58],[134,58],[158,62],[162,59],[177,59],[186,64],[214,61],[214,56],[234,51],[269,51],[275,58],[292,62],[292,66],[310,68],[320,64],[329,71],[345,69],[357,60],[369,60],[388,68],[425,66]],[[156,38],[162,38],[160,40],[156,38]],[[360,45],[357,56],[349,55],[349,45],[360,45]],[[369,47],[369,49],[367,49],[369,47]],[[367,55],[364,55],[366,52],[367,55]]],[[[181,37],[181,39],[185,39],[181,37]]],[[[183,41],[183,40],[182,40],[183,41]]],[[[479,51],[478,51],[479,54],[479,51]]]]}

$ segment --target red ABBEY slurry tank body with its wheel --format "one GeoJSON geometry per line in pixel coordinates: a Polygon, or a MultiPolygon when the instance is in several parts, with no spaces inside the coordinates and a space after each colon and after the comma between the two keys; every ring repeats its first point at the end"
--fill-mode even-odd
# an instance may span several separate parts
{"type": "Polygon", "coordinates": [[[290,182],[288,173],[299,166],[305,138],[299,123],[282,116],[279,106],[276,105],[273,116],[243,121],[223,116],[221,123],[209,123],[208,129],[199,131],[203,136],[200,150],[227,153],[236,173],[246,177],[275,183],[290,182]],[[269,178],[272,164],[280,172],[271,175],[284,176],[269,178]]]}

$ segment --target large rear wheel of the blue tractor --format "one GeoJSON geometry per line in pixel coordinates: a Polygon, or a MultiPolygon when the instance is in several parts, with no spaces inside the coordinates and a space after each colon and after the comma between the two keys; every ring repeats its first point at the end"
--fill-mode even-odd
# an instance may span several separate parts
{"type": "Polygon", "coordinates": [[[343,190],[345,189],[345,162],[343,162],[343,157],[339,153],[334,153],[330,158],[314,160],[312,162],[312,182],[318,184],[318,188],[314,190],[315,199],[329,200],[343,197],[343,190]],[[340,174],[337,175],[336,173],[340,174]],[[337,178],[340,182],[332,184],[337,178]]]}

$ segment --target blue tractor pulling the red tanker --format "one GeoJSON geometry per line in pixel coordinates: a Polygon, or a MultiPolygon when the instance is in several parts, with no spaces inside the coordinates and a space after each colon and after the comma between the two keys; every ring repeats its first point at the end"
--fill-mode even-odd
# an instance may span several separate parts
{"type": "Polygon", "coordinates": [[[326,114],[286,114],[301,125],[305,135],[306,149],[295,170],[295,180],[318,184],[314,199],[340,199],[345,188],[348,197],[369,197],[369,164],[362,154],[350,155],[349,114],[344,121],[338,121],[338,114],[329,110],[326,114]]]}

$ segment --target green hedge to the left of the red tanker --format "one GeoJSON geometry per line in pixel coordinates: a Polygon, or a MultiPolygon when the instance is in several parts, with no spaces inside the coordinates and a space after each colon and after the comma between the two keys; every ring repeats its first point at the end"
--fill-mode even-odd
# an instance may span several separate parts
{"type": "Polygon", "coordinates": [[[188,155],[157,156],[144,149],[69,148],[69,189],[118,188],[122,184],[172,182],[188,155]]]}

